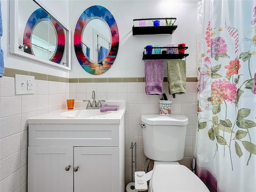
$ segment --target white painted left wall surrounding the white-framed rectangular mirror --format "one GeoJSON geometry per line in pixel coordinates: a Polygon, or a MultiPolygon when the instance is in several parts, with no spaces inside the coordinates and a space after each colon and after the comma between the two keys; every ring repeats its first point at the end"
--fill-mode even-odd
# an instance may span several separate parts
{"type": "MultiPolygon", "coordinates": [[[[64,25],[68,26],[68,1],[58,0],[40,0],[48,12],[57,18],[64,25]]],[[[9,1],[1,0],[2,6],[2,24],[3,36],[1,38],[1,47],[4,51],[4,65],[7,68],[38,72],[43,74],[68,77],[68,70],[56,68],[40,62],[22,58],[9,53],[9,1]]],[[[10,37],[12,38],[12,37],[10,37]]]]}

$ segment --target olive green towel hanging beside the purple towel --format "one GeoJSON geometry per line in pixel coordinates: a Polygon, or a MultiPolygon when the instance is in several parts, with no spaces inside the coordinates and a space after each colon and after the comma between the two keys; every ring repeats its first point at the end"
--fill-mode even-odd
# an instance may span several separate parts
{"type": "Polygon", "coordinates": [[[186,93],[186,60],[167,62],[169,94],[186,93]]]}

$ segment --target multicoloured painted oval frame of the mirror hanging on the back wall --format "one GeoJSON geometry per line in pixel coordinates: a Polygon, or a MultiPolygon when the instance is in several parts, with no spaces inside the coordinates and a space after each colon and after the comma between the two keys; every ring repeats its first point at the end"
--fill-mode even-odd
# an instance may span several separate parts
{"type": "Polygon", "coordinates": [[[94,5],[87,8],[78,19],[74,32],[74,48],[76,52],[76,57],[82,68],[86,72],[93,75],[100,75],[106,72],[112,66],[116,59],[118,47],[119,32],[114,16],[110,13],[109,10],[107,10],[103,6],[94,5]],[[86,22],[92,20],[92,18],[94,17],[102,18],[108,24],[112,37],[110,51],[108,52],[108,56],[106,56],[106,58],[102,62],[91,62],[90,60],[88,60],[88,57],[84,54],[82,50],[82,33],[84,31],[84,26],[86,26],[86,22]],[[96,70],[100,67],[104,67],[104,69],[97,73],[96,70]]]}

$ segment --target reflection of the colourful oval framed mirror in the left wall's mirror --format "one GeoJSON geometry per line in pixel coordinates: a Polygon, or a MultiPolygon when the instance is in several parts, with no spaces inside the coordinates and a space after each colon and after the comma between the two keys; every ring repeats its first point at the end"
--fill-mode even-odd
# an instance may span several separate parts
{"type": "Polygon", "coordinates": [[[35,10],[23,33],[24,52],[60,64],[65,50],[64,28],[45,10],[35,10]]]}

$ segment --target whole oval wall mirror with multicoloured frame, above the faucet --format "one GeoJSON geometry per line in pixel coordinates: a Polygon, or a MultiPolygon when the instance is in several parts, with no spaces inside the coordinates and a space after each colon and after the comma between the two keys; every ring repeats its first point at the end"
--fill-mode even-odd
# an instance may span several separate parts
{"type": "Polygon", "coordinates": [[[74,32],[74,48],[82,68],[94,75],[106,72],[116,59],[118,46],[118,27],[112,14],[98,5],[86,9],[74,32]]]}

